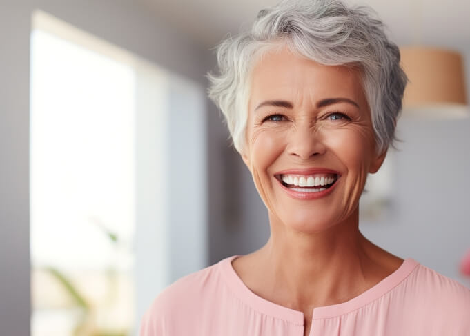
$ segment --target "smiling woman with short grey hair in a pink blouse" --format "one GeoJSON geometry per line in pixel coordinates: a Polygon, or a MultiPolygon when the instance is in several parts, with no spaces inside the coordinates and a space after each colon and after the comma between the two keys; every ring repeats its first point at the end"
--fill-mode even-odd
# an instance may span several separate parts
{"type": "Polygon", "coordinates": [[[141,335],[470,335],[470,290],[358,229],[407,81],[366,8],[284,1],[217,50],[221,108],[271,236],[179,279],[141,335]]]}

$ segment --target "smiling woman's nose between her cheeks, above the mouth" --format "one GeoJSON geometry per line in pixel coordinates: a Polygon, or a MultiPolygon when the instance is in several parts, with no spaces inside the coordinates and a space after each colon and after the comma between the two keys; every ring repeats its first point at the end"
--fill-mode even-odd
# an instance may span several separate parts
{"type": "Polygon", "coordinates": [[[326,151],[322,137],[311,125],[299,126],[292,130],[288,138],[288,153],[299,159],[311,159],[326,151]]]}

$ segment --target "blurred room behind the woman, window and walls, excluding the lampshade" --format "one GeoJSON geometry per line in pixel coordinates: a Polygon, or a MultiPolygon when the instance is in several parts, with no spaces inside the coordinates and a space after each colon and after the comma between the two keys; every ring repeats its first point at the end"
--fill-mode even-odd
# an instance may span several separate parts
{"type": "MultiPolygon", "coordinates": [[[[205,75],[217,43],[276,2],[0,0],[1,335],[137,335],[163,288],[264,245],[266,209],[205,75]]],[[[470,97],[468,1],[350,2],[399,46],[459,52],[470,97]]],[[[360,230],[470,287],[457,108],[404,108],[360,230]]]]}

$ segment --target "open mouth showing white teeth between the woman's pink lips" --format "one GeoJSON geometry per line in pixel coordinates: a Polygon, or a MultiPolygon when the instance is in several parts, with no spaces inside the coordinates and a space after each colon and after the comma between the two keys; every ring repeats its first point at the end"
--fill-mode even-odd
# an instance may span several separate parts
{"type": "Polygon", "coordinates": [[[315,173],[309,175],[277,174],[275,178],[280,184],[294,192],[323,192],[331,188],[339,179],[336,173],[315,173]]]}

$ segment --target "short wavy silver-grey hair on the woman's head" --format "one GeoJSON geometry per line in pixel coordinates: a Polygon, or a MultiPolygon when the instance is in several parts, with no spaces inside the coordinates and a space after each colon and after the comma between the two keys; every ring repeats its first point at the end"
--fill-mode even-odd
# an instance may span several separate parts
{"type": "Polygon", "coordinates": [[[220,75],[208,74],[208,95],[224,114],[238,152],[246,145],[251,70],[280,42],[317,63],[359,67],[376,148],[393,146],[407,76],[377,14],[341,0],[284,0],[261,10],[251,30],[224,39],[217,47],[220,75]]]}

